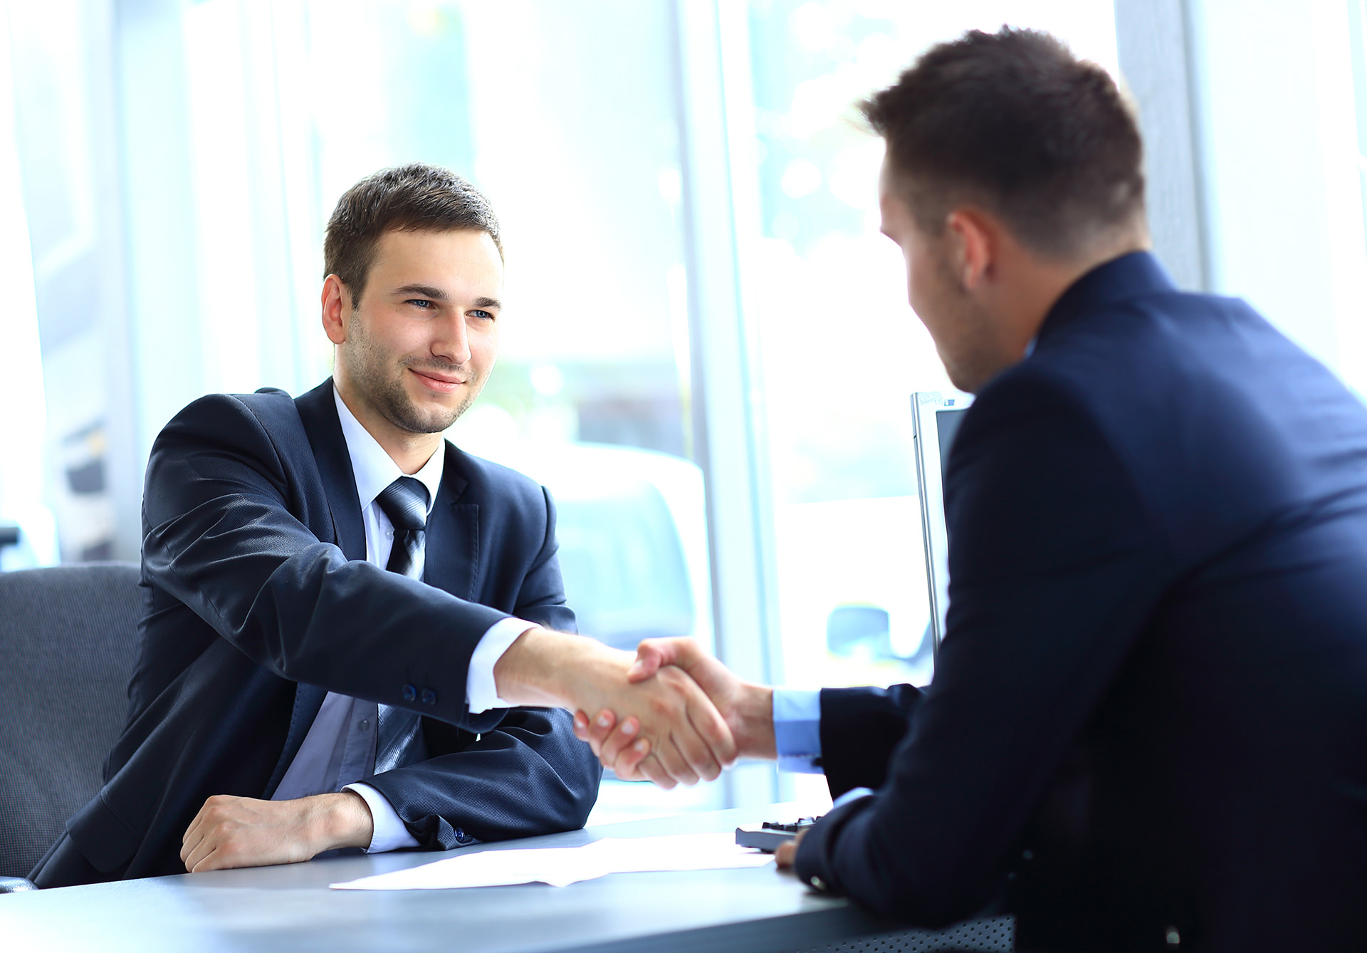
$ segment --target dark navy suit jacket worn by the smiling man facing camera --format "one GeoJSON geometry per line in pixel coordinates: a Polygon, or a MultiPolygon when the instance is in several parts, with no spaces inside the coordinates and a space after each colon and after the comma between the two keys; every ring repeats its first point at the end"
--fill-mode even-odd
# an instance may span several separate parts
{"type": "Polygon", "coordinates": [[[567,712],[465,703],[492,623],[574,629],[551,500],[444,453],[417,582],[365,562],[331,380],[298,401],[205,397],[165,427],[144,492],[128,721],[67,824],[105,879],[185,872],[180,837],[205,798],[269,797],[328,690],[425,715],[429,760],[368,779],[422,846],[582,826],[600,768],[567,712]]]}

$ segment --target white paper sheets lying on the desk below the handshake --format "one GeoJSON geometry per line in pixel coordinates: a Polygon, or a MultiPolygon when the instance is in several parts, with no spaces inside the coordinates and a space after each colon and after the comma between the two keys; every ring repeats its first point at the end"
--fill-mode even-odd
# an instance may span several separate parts
{"type": "Polygon", "coordinates": [[[738,846],[734,834],[607,837],[578,848],[481,850],[331,886],[336,890],[447,890],[513,883],[563,887],[604,874],[763,867],[772,859],[738,846]]]}

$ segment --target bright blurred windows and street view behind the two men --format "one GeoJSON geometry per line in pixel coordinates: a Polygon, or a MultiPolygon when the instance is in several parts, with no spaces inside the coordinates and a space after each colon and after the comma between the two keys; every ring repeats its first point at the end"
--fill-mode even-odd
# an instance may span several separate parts
{"type": "MultiPolygon", "coordinates": [[[[502,217],[503,349],[451,431],[545,483],[581,629],[797,686],[931,674],[910,395],[946,388],[854,104],[1054,31],[1135,98],[1159,257],[1367,380],[1364,0],[14,0],[0,22],[0,569],[137,559],[209,391],[329,373],[323,226],[381,167],[502,217]]],[[[608,783],[597,818],[791,797],[608,783]]]]}

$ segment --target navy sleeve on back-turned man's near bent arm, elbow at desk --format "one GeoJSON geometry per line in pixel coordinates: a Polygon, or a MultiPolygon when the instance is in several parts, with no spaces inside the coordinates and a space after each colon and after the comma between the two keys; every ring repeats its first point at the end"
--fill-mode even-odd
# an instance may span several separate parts
{"type": "Polygon", "coordinates": [[[808,882],[924,926],[995,891],[1173,565],[1081,402],[1039,373],[998,381],[969,410],[946,518],[950,608],[934,682],[876,796],[827,815],[797,856],[808,882]]]}

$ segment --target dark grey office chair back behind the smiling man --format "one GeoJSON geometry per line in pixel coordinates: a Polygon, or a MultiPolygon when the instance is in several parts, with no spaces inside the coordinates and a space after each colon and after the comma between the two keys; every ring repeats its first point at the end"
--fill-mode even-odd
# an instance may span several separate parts
{"type": "Polygon", "coordinates": [[[0,893],[25,879],[104,783],[127,714],[138,566],[0,573],[0,893]]]}

